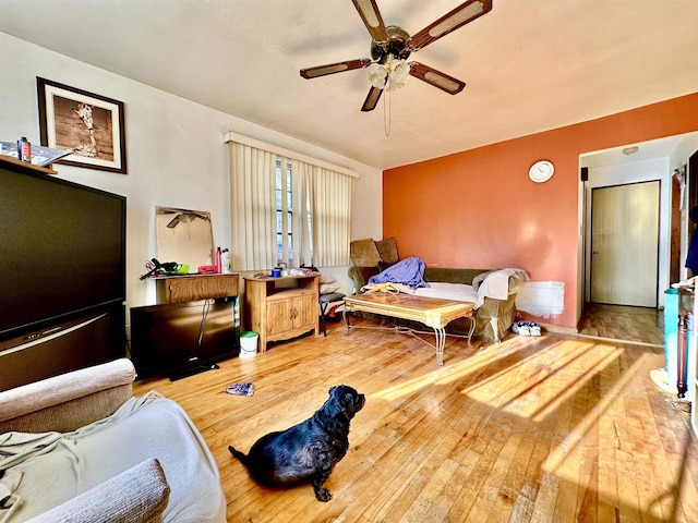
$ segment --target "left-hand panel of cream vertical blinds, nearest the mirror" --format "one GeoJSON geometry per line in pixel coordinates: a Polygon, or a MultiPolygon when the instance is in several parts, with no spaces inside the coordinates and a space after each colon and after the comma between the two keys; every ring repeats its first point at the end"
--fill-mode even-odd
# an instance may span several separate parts
{"type": "Polygon", "coordinates": [[[276,155],[230,142],[232,270],[276,267],[276,155]]]}

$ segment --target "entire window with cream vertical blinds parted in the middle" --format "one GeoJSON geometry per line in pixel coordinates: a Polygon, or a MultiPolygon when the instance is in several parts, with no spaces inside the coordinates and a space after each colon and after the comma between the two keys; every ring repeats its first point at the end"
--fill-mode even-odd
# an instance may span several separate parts
{"type": "Polygon", "coordinates": [[[228,142],[233,270],[348,265],[354,175],[228,142]]]}

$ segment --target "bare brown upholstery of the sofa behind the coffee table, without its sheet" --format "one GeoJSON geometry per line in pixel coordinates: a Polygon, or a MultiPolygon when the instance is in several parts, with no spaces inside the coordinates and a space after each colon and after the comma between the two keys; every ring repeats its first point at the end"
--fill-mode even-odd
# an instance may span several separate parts
{"type": "MultiPolygon", "coordinates": [[[[377,242],[372,239],[353,241],[350,245],[350,256],[353,265],[349,267],[349,277],[353,281],[356,293],[362,292],[362,289],[369,282],[369,278],[377,275],[399,259],[394,238],[377,242]]],[[[491,271],[492,269],[426,267],[424,269],[424,281],[432,284],[435,282],[453,283],[467,288],[472,285],[473,280],[480,279],[481,276],[491,271]]],[[[474,337],[486,342],[500,342],[504,338],[516,318],[516,294],[524,283],[525,279],[512,277],[508,280],[506,299],[482,299],[482,303],[476,309],[474,337]]],[[[477,289],[474,291],[465,289],[465,291],[472,294],[472,299],[466,299],[466,301],[477,301],[477,289]]],[[[419,295],[419,293],[417,294],[419,295]]],[[[454,299],[454,295],[438,296],[438,294],[433,293],[430,295],[454,299]]],[[[401,324],[404,320],[396,320],[396,323],[401,324]]],[[[470,320],[461,318],[452,321],[447,326],[446,332],[467,335],[469,327],[470,320]]]]}

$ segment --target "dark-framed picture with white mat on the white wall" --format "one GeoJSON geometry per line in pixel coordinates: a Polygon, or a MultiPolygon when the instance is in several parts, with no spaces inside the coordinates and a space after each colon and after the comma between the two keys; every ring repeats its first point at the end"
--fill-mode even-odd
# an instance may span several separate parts
{"type": "Polygon", "coordinates": [[[73,153],[60,163],[127,173],[123,102],[37,76],[41,145],[73,153]]]}

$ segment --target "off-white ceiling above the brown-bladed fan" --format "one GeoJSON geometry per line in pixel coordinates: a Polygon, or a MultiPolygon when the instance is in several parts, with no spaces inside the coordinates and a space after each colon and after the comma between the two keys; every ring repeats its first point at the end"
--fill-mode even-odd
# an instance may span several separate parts
{"type": "MultiPolygon", "coordinates": [[[[460,3],[377,0],[410,34],[460,3]]],[[[370,58],[350,0],[2,0],[0,31],[380,169],[698,90],[696,0],[493,3],[412,54],[467,87],[408,77],[389,136],[383,100],[360,111],[366,70],[299,75],[370,58]]]]}

